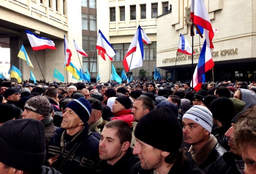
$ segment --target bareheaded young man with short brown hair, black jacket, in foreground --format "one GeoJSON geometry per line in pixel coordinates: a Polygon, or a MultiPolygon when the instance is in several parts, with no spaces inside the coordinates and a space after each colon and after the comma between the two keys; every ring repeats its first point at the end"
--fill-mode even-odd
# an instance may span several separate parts
{"type": "Polygon", "coordinates": [[[128,174],[139,159],[132,154],[131,129],[122,120],[113,120],[104,126],[99,142],[99,159],[96,174],[128,174]]]}

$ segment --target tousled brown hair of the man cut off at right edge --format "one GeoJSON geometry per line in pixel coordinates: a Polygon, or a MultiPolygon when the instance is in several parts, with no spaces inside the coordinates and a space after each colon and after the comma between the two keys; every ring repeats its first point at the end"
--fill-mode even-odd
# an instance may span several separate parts
{"type": "Polygon", "coordinates": [[[236,145],[252,145],[256,147],[256,105],[248,108],[239,118],[235,126],[236,145]]]}

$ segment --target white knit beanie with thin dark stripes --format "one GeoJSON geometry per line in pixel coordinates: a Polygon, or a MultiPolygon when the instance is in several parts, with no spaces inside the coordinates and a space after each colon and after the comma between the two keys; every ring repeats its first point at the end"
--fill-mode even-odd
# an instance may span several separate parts
{"type": "Polygon", "coordinates": [[[190,119],[201,125],[207,131],[212,131],[212,113],[205,106],[195,105],[191,107],[182,117],[190,119]]]}

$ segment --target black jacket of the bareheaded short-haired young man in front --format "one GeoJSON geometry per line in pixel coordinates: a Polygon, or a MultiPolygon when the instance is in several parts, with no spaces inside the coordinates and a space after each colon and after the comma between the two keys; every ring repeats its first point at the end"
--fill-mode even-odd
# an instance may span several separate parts
{"type": "Polygon", "coordinates": [[[133,155],[133,149],[129,147],[126,154],[113,166],[107,164],[106,160],[101,160],[96,165],[96,174],[128,174],[129,170],[139,161],[138,156],[133,155]]]}

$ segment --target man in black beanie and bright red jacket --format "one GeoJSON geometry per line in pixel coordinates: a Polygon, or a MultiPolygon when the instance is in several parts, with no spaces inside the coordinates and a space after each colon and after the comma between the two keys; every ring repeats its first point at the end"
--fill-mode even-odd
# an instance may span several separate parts
{"type": "Polygon", "coordinates": [[[134,122],[133,114],[131,114],[131,100],[128,96],[117,97],[115,103],[112,105],[113,118],[111,120],[123,120],[130,127],[132,126],[131,122],[134,122]]]}

